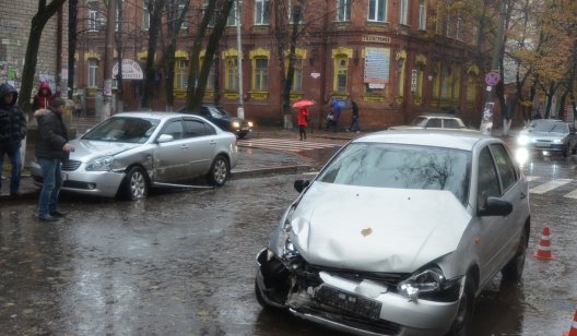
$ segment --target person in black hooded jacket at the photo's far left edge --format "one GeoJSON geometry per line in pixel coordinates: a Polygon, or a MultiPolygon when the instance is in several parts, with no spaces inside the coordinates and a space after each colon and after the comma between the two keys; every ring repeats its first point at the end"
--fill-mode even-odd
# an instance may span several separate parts
{"type": "Polygon", "coordinates": [[[10,196],[17,196],[22,170],[20,147],[26,137],[26,117],[16,104],[17,91],[10,84],[0,85],[0,190],[4,155],[8,156],[12,170],[10,173],[10,196]]]}

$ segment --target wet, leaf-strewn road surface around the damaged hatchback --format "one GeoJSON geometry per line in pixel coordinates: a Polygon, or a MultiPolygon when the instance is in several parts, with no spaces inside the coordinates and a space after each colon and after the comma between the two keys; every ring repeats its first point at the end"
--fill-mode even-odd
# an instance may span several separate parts
{"type": "MultiPolygon", "coordinates": [[[[318,155],[318,154],[315,154],[318,155]]],[[[328,154],[320,154],[325,158],[328,154]]],[[[319,157],[315,157],[319,159],[319,157]]],[[[573,179],[577,157],[535,158],[532,187],[573,179]]],[[[1,335],[335,335],[255,300],[255,255],[297,193],[301,175],[161,190],[139,202],[62,195],[69,216],[34,218],[36,200],[0,212],[1,335]]],[[[531,194],[523,281],[495,278],[475,335],[562,335],[577,307],[577,201],[572,181],[531,194]],[[544,226],[554,261],[532,257],[544,226]]]]}

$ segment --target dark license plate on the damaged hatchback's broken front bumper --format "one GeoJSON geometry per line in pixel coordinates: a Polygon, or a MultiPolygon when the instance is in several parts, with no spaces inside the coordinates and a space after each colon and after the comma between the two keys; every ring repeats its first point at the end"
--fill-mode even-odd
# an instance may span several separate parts
{"type": "Polygon", "coordinates": [[[382,305],[378,301],[345,292],[327,285],[315,292],[315,298],[327,305],[366,316],[370,320],[379,319],[380,308],[382,305]]]}

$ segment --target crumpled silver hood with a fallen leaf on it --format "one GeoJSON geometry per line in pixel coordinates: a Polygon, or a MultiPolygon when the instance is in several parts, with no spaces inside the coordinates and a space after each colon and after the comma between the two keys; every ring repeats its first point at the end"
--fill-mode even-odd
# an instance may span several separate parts
{"type": "Polygon", "coordinates": [[[410,273],[455,251],[470,220],[449,191],[314,182],[290,237],[315,265],[410,273]]]}

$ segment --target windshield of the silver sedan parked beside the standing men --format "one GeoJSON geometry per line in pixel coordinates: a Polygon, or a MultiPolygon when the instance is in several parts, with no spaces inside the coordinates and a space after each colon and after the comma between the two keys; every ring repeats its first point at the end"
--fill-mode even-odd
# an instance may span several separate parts
{"type": "Polygon", "coordinates": [[[81,139],[143,144],[152,135],[158,122],[155,119],[113,117],[90,130],[81,139]]]}

